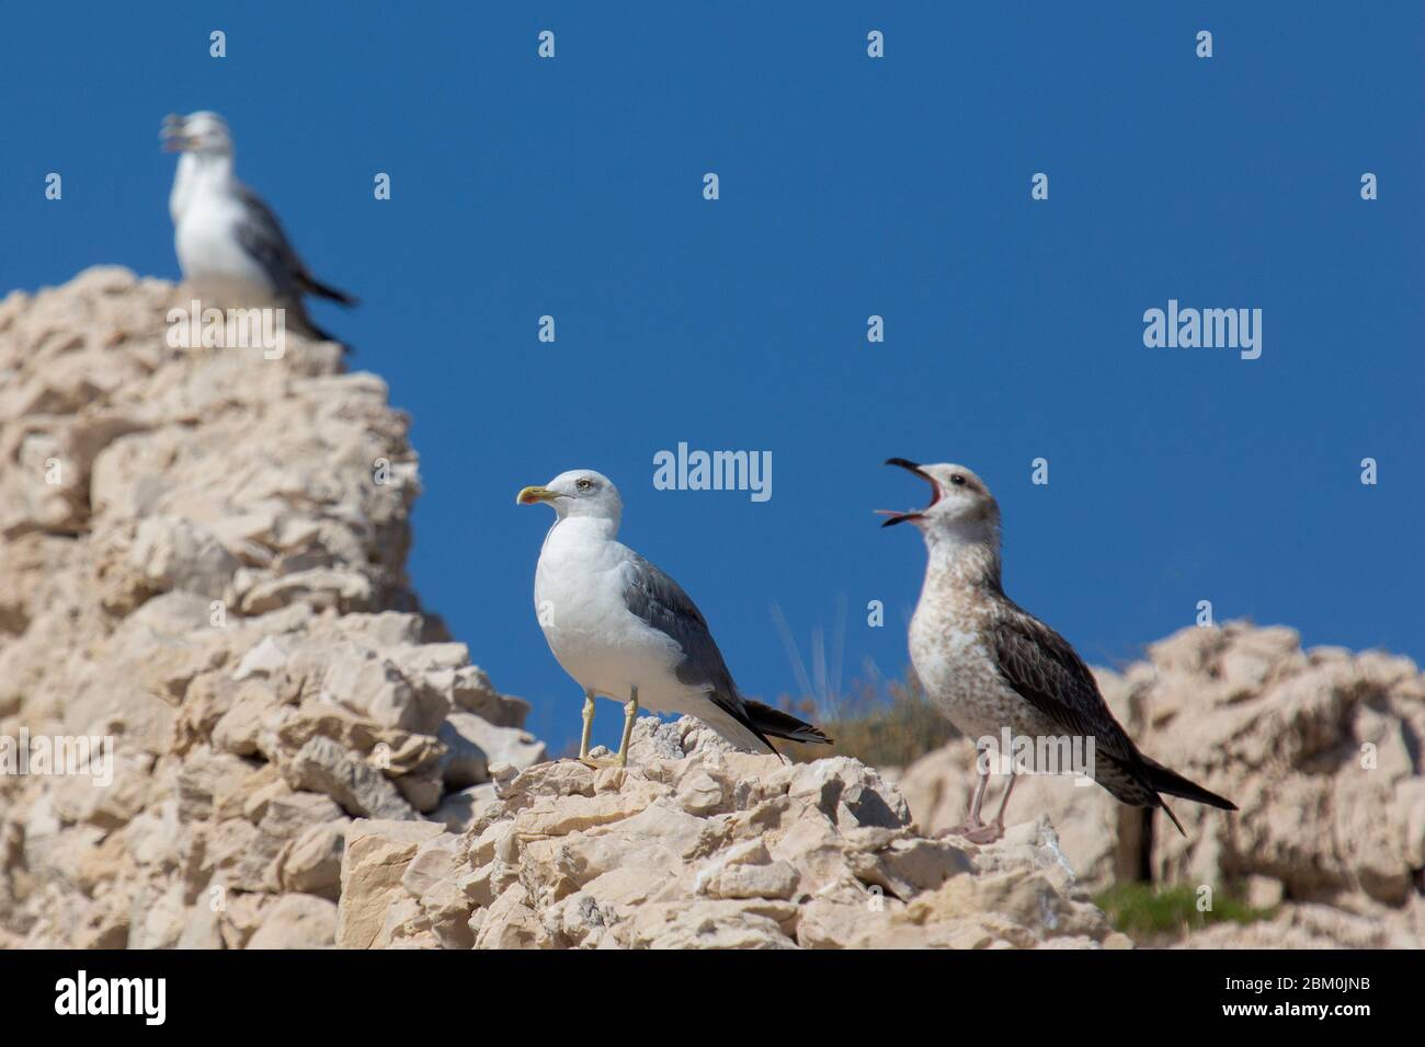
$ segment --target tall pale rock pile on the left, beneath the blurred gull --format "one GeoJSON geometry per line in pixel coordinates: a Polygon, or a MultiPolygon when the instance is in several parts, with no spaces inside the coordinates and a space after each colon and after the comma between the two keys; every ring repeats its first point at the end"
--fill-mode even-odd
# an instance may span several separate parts
{"type": "Polygon", "coordinates": [[[0,761],[113,746],[110,782],[0,775],[0,943],[331,944],[358,819],[459,828],[544,756],[409,591],[385,385],[295,336],[170,348],[178,299],[0,303],[0,761]]]}

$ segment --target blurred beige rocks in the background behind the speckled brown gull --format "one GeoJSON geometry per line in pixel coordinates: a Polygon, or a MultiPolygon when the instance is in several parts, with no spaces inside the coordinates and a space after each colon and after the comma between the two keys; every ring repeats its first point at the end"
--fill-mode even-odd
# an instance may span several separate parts
{"type": "MultiPolygon", "coordinates": [[[[1144,752],[1241,811],[1170,799],[1183,838],[1096,786],[1025,779],[1010,815],[1047,813],[1090,886],[1150,876],[1281,906],[1274,920],[1194,936],[1208,946],[1425,946],[1425,675],[1409,658],[1304,651],[1290,628],[1230,623],[1186,628],[1123,674],[1096,675],[1144,752]]],[[[958,822],[969,741],[899,785],[925,830],[958,822]]]]}

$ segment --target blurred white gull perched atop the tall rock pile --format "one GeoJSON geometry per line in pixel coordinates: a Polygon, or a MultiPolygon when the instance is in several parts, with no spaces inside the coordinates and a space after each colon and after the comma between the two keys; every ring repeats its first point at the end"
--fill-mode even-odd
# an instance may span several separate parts
{"type": "Polygon", "coordinates": [[[232,137],[217,113],[170,115],[161,132],[164,148],[181,152],[168,214],[184,279],[201,298],[224,305],[274,305],[299,330],[335,342],[312,323],[304,295],[342,305],[356,299],[319,282],[282,232],[276,215],[232,174],[232,137]]]}

